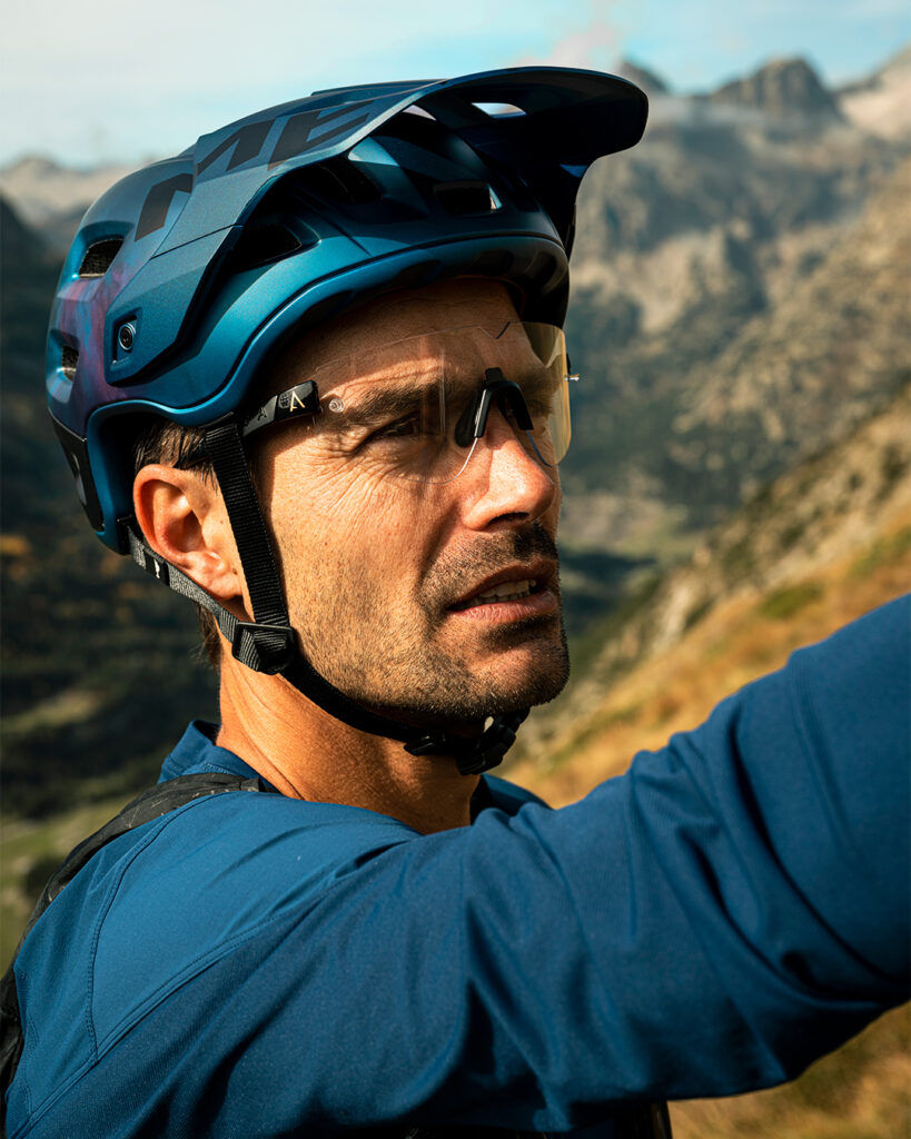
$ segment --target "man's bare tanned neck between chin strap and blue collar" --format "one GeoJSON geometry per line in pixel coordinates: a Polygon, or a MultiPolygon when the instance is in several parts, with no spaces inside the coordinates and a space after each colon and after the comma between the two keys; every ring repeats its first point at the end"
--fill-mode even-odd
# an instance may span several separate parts
{"type": "Polygon", "coordinates": [[[335,720],[280,677],[233,659],[221,675],[219,746],[239,755],[284,795],[388,814],[433,834],[467,826],[477,776],[453,760],[415,756],[401,743],[335,720]]]}

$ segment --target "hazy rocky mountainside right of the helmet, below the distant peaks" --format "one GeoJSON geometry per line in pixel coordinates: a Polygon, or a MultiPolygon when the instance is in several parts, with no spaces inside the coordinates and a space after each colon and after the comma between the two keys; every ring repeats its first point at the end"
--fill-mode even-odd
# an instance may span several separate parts
{"type": "Polygon", "coordinates": [[[596,164],[567,322],[583,412],[564,464],[569,547],[600,533],[614,552],[676,556],[895,391],[910,150],[844,122],[687,103],[596,164]]]}

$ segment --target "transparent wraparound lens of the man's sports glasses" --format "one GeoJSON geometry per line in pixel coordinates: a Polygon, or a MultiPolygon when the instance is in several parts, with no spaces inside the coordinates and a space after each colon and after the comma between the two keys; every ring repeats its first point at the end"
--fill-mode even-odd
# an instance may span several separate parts
{"type": "Polygon", "coordinates": [[[487,432],[502,417],[536,461],[556,466],[569,444],[569,402],[563,331],[550,325],[460,328],[334,360],[309,375],[322,411],[313,437],[383,477],[450,482],[484,445],[465,425],[491,369],[518,386],[531,428],[510,392],[491,399],[487,432]]]}

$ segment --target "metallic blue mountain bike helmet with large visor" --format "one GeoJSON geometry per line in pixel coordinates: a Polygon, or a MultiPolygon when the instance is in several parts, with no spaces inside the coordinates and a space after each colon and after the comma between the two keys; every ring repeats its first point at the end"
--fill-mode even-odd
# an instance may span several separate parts
{"type": "MultiPolygon", "coordinates": [[[[561,326],[580,182],[596,158],[639,141],[646,115],[633,84],[569,68],[339,88],[117,182],[80,224],[47,351],[50,413],[101,540],[212,608],[136,532],[138,425],[222,429],[293,333],[392,289],[489,277],[510,286],[524,320],[561,326]]],[[[239,528],[268,541],[261,523],[239,528]]],[[[312,670],[302,680],[281,604],[263,607],[271,620],[257,613],[244,629],[216,612],[235,655],[333,704],[334,689],[313,695],[330,686],[312,670]]],[[[420,754],[413,731],[384,722],[380,734],[420,754]]]]}

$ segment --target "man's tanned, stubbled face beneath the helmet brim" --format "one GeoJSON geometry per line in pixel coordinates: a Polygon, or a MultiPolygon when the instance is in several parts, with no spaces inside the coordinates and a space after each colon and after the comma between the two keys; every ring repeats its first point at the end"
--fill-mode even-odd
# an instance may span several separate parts
{"type": "Polygon", "coordinates": [[[258,464],[301,647],[351,698],[413,722],[527,707],[568,674],[556,467],[494,405],[465,468],[434,481],[458,457],[425,456],[416,475],[405,418],[362,410],[436,392],[441,345],[453,405],[489,368],[527,371],[527,343],[495,338],[517,319],[495,282],[391,295],[307,334],[270,376],[270,394],[317,377],[326,409],[276,429],[258,464]]]}

